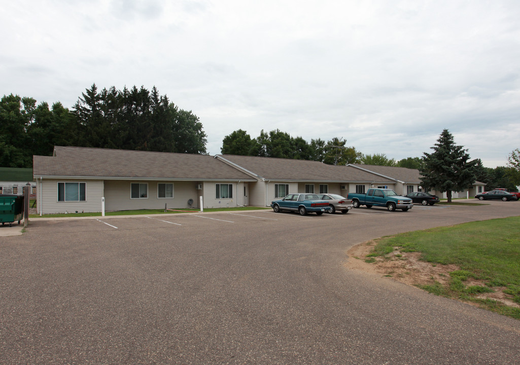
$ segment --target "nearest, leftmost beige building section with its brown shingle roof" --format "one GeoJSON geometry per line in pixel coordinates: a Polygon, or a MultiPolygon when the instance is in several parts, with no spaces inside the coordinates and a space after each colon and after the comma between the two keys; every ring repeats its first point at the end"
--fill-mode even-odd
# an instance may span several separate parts
{"type": "Polygon", "coordinates": [[[241,206],[256,181],[208,155],[58,146],[33,174],[39,214],[241,206]]]}

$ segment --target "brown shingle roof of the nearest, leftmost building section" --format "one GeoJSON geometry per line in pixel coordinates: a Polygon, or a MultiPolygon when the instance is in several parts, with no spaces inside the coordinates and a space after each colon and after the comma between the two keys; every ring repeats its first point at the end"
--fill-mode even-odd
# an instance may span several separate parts
{"type": "Polygon", "coordinates": [[[55,147],[55,156],[34,156],[34,176],[180,180],[252,180],[212,156],[187,153],[55,147]]]}

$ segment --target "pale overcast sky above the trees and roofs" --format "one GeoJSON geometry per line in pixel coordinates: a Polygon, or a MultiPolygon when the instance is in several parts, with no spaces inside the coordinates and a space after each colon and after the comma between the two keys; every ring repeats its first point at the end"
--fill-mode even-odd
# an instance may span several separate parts
{"type": "Polygon", "coordinates": [[[400,160],[444,128],[472,159],[520,147],[520,1],[0,0],[0,96],[156,86],[207,152],[273,129],[400,160]]]}

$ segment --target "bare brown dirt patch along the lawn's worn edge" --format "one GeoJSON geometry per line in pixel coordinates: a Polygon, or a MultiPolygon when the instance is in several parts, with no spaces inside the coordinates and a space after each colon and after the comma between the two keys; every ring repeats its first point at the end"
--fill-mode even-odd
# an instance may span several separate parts
{"type": "MultiPolygon", "coordinates": [[[[420,260],[421,253],[419,252],[400,252],[396,250],[384,257],[367,257],[367,255],[373,251],[375,244],[376,242],[371,240],[355,245],[349,249],[347,251],[348,260],[345,266],[348,269],[375,273],[382,277],[394,279],[412,286],[432,285],[436,282],[446,286],[449,285],[451,279],[449,273],[451,271],[460,270],[456,265],[435,265],[420,260]],[[365,260],[369,260],[370,263],[365,262],[365,260]]],[[[486,286],[485,281],[472,278],[464,281],[464,284],[466,286],[486,286]]],[[[495,299],[507,306],[520,308],[520,305],[513,302],[510,296],[503,293],[506,288],[495,286],[491,289],[493,289],[492,293],[481,293],[475,297],[495,299]]],[[[470,301],[466,303],[477,305],[470,301]]]]}

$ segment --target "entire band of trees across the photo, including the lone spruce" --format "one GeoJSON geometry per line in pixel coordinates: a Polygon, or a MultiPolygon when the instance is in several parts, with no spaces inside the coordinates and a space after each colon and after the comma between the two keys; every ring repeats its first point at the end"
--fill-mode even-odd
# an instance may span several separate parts
{"type": "MultiPolygon", "coordinates": [[[[0,100],[0,166],[4,167],[32,167],[33,155],[51,155],[54,146],[206,153],[206,142],[198,116],[179,109],[155,87],[117,90],[112,86],[98,91],[93,84],[72,110],[60,102],[50,108],[45,101],[36,106],[35,99],[13,94],[0,100]]],[[[424,187],[440,191],[447,191],[448,185],[451,190],[462,190],[475,180],[485,183],[488,191],[497,187],[516,191],[515,185],[520,184],[518,149],[509,155],[508,166],[484,167],[479,159],[469,160],[467,150],[454,144],[447,129],[432,147],[434,153],[399,161],[385,154],[363,154],[346,143],[343,137],[307,142],[279,129],[262,130],[258,137],[251,138],[238,129],[224,137],[221,152],[331,165],[417,168],[424,187]]]]}

